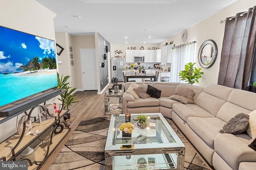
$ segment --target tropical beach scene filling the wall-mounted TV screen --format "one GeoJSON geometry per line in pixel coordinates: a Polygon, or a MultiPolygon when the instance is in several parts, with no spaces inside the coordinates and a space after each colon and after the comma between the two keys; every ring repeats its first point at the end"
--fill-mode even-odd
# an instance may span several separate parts
{"type": "Polygon", "coordinates": [[[0,26],[0,107],[57,85],[54,41],[0,26]]]}

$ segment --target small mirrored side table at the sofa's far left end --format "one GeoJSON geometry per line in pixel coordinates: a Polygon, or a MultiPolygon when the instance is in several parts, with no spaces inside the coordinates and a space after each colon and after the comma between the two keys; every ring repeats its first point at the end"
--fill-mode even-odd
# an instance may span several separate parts
{"type": "MultiPolygon", "coordinates": [[[[114,90],[113,90],[114,91],[114,90]]],[[[105,114],[122,114],[122,96],[123,90],[118,90],[118,93],[106,92],[104,94],[104,105],[105,105],[105,114]]]]}

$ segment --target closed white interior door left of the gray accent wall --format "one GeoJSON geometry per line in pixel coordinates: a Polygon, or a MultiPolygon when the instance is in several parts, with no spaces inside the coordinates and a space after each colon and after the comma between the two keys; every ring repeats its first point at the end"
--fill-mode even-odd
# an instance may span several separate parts
{"type": "Polygon", "coordinates": [[[81,49],[83,90],[97,90],[95,49],[81,49]]]}

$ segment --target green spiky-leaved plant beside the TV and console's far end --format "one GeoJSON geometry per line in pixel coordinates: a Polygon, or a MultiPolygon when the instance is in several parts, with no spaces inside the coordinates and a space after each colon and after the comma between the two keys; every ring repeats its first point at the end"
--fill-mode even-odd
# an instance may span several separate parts
{"type": "Polygon", "coordinates": [[[70,83],[67,82],[67,80],[70,78],[70,76],[64,76],[63,75],[60,77],[59,73],[57,72],[57,78],[58,78],[58,86],[57,88],[58,89],[67,89],[68,92],[66,93],[62,93],[60,96],[61,96],[61,99],[58,99],[60,100],[61,102],[64,101],[64,109],[68,109],[68,107],[72,104],[72,103],[76,103],[78,102],[78,98],[75,98],[76,95],[75,94],[72,94],[76,88],[72,88],[69,86],[70,83]],[[65,96],[66,95],[66,96],[65,96]]]}

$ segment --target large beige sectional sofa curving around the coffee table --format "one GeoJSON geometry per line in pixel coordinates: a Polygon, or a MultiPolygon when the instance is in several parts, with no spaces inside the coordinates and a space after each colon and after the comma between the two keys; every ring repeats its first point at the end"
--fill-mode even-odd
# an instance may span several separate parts
{"type": "MultiPolygon", "coordinates": [[[[161,90],[161,98],[134,98],[123,94],[123,113],[162,113],[171,118],[196,149],[216,170],[255,168],[256,151],[248,147],[254,139],[246,133],[232,135],[220,129],[238,113],[256,110],[256,94],[209,84],[205,88],[184,83],[136,82],[161,90]],[[182,104],[169,97],[177,86],[192,88],[194,104],[182,104]],[[249,163],[250,162],[250,163],[249,163]],[[253,164],[252,164],[253,162],[253,164]]],[[[125,90],[131,82],[124,84],[125,90]]]]}

